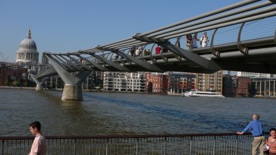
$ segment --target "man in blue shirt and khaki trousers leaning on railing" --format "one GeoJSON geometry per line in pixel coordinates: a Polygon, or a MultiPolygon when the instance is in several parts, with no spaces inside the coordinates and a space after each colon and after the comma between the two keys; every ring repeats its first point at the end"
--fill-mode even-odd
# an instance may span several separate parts
{"type": "Polygon", "coordinates": [[[265,138],[264,138],[264,130],[263,130],[263,123],[259,121],[259,114],[253,114],[252,116],[253,121],[242,130],[242,132],[237,132],[237,134],[244,134],[244,132],[252,132],[254,137],[252,142],[252,155],[257,155],[257,150],[259,149],[260,155],[263,155],[264,152],[264,145],[265,145],[265,138]]]}

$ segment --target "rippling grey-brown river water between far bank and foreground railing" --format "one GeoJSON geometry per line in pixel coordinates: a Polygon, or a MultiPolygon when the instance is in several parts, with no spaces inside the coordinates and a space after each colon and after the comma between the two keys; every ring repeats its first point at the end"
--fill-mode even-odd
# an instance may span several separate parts
{"type": "Polygon", "coordinates": [[[61,101],[61,95],[0,89],[0,136],[30,136],[32,121],[48,136],[237,132],[255,112],[266,132],[276,126],[275,99],[83,92],[83,101],[61,101]]]}

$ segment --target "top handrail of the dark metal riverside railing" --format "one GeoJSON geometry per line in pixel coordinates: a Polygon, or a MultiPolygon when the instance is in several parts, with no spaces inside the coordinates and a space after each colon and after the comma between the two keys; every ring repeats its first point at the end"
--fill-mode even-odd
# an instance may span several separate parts
{"type": "MultiPolygon", "coordinates": [[[[264,133],[269,134],[268,132],[264,133]]],[[[252,135],[244,133],[242,135],[252,135]]],[[[144,134],[144,135],[92,135],[92,136],[45,136],[46,139],[78,139],[78,138],[168,138],[168,137],[197,137],[197,136],[242,136],[237,133],[219,133],[219,134],[144,134]]],[[[33,139],[34,136],[0,136],[0,140],[21,140],[33,139]]]]}

